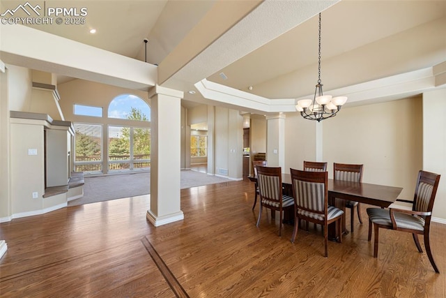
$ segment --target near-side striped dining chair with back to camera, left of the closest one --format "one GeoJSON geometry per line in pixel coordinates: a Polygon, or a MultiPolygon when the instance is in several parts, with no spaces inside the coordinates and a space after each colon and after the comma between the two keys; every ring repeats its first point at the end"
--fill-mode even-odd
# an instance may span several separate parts
{"type": "Polygon", "coordinates": [[[260,211],[257,219],[257,227],[260,225],[263,207],[271,209],[272,212],[279,211],[279,236],[282,236],[283,212],[293,208],[294,199],[282,193],[282,168],[262,167],[257,165],[257,182],[259,184],[260,211]]]}

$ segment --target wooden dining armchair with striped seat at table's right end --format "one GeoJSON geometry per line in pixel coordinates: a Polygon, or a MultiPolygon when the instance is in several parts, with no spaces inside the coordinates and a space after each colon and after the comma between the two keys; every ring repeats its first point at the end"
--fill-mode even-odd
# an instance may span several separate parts
{"type": "Polygon", "coordinates": [[[418,240],[418,234],[422,234],[424,235],[424,247],[426,248],[429,261],[436,273],[440,273],[433,261],[431,244],[429,243],[433,201],[436,197],[439,181],[440,174],[422,170],[418,172],[412,210],[367,208],[367,214],[369,215],[369,241],[371,240],[371,224],[373,223],[374,225],[374,258],[378,257],[379,228],[412,233],[413,241],[415,241],[415,245],[420,253],[423,251],[418,240]]]}

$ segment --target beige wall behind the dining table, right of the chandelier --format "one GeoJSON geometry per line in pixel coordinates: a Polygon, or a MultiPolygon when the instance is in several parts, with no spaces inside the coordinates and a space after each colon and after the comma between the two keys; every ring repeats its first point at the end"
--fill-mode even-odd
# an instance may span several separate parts
{"type": "Polygon", "coordinates": [[[345,107],[323,121],[323,160],[364,164],[363,181],[403,187],[411,200],[422,169],[422,98],[345,107]]]}

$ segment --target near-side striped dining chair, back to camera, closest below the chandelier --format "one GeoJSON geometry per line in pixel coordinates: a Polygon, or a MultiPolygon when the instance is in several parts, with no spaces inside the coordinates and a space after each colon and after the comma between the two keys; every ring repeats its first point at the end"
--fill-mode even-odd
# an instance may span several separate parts
{"type": "MultiPolygon", "coordinates": [[[[323,226],[325,257],[328,257],[328,225],[337,222],[341,230],[344,211],[328,204],[328,172],[309,172],[290,169],[294,198],[294,230],[291,242],[298,234],[299,220],[303,219],[323,226]]],[[[342,242],[339,233],[338,242],[342,242]]]]}

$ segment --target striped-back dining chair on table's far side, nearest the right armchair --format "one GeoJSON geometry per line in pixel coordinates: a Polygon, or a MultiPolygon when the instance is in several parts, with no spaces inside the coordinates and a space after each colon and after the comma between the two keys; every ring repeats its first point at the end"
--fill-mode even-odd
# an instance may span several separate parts
{"type": "MultiPolygon", "coordinates": [[[[334,180],[343,180],[343,181],[356,181],[362,182],[362,168],[363,165],[352,165],[346,163],[334,163],[334,180]]],[[[362,216],[361,216],[361,204],[356,201],[347,200],[346,208],[350,209],[350,228],[351,232],[355,229],[354,219],[355,219],[355,209],[357,211],[357,218],[362,224],[362,216]]]]}

